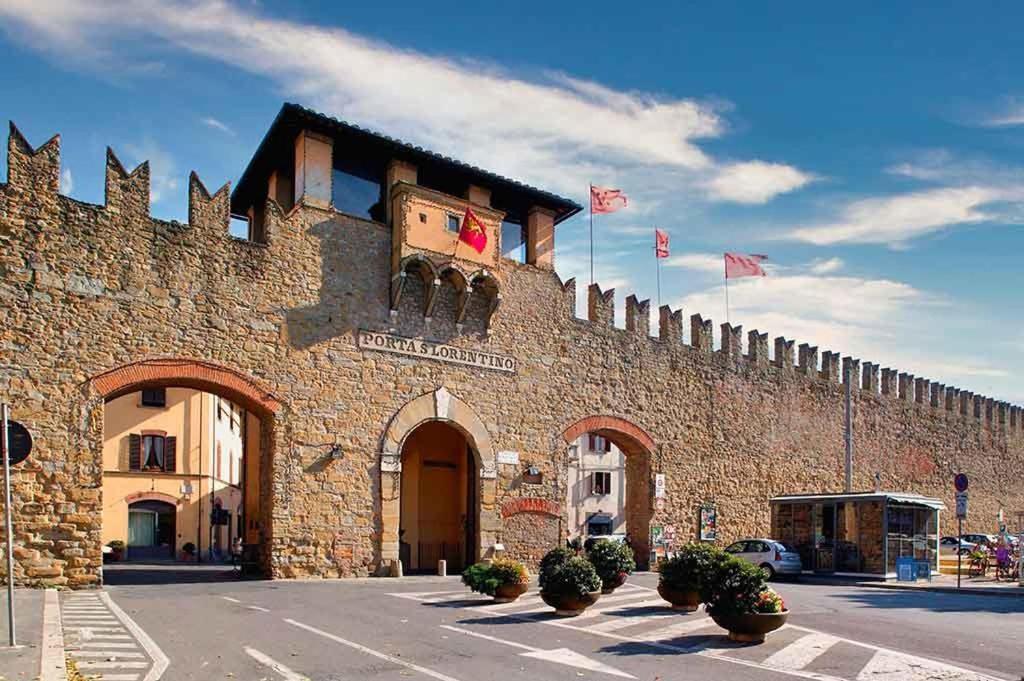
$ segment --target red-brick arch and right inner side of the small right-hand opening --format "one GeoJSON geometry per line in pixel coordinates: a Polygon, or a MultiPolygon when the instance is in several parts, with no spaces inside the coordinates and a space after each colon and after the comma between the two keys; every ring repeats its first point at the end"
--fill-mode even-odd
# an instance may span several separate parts
{"type": "Polygon", "coordinates": [[[650,520],[653,516],[651,459],[654,439],[643,428],[616,416],[589,416],[562,432],[565,444],[593,433],[610,440],[626,456],[626,531],[636,553],[637,566],[648,567],[650,520]]]}

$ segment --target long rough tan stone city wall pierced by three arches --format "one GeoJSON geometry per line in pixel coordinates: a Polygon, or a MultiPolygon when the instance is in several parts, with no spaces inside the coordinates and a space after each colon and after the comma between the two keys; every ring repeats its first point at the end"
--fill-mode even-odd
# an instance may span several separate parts
{"type": "MultiPolygon", "coordinates": [[[[635,298],[630,328],[616,329],[614,295],[596,287],[588,292],[593,321],[579,320],[573,283],[508,260],[496,272],[502,304],[489,333],[488,310],[472,301],[457,327],[457,292],[447,284],[425,320],[415,276],[391,315],[384,224],[302,203],[285,213],[268,201],[264,243],[244,242],[228,236],[226,187],[211,196],[195,175],[189,222],[181,224],[148,215],[147,166],[129,173],[113,153],[103,206],[58,195],[58,138],[34,151],[12,128],[8,163],[0,185],[0,395],[36,438],[15,474],[19,582],[100,579],[105,393],[94,379],[157,357],[243,377],[231,389],[253,393],[240,402],[247,409],[254,395],[266,397],[260,522],[274,577],[386,567],[384,516],[394,490],[385,486],[393,473],[381,468],[384,434],[404,405],[441,387],[484,424],[495,452],[519,454],[518,465],[497,464],[494,485],[481,492],[481,529],[513,555],[541,550],[527,535],[547,544],[564,530],[564,513],[556,522],[536,512],[503,518],[500,509],[520,497],[564,508],[565,433],[587,417],[632,424],[630,432],[604,431],[642,457],[628,464],[647,477],[633,476],[640,492],[628,501],[631,514],[673,525],[680,539],[695,536],[701,503],[717,504],[720,541],[728,542],[768,529],[773,495],[842,488],[839,355],[823,353],[819,366],[817,349],[801,347],[797,366],[792,341],[776,341],[769,355],[766,337],[754,333],[744,353],[732,327],[713,351],[710,321],[694,315],[684,343],[682,314],[668,308],[650,338],[647,303],[635,298]],[[359,329],[511,355],[518,370],[360,349],[359,329]],[[640,435],[652,446],[637,450],[640,435]],[[341,458],[325,459],[335,445],[341,458]],[[542,484],[523,481],[530,465],[542,484]],[[653,499],[654,473],[666,475],[664,500],[653,499]]],[[[1019,408],[896,372],[880,380],[866,364],[858,377],[855,488],[872,488],[878,472],[885,488],[951,507],[951,476],[965,471],[976,519],[969,524],[990,529],[1000,501],[1008,512],[1024,509],[1019,408]]]]}

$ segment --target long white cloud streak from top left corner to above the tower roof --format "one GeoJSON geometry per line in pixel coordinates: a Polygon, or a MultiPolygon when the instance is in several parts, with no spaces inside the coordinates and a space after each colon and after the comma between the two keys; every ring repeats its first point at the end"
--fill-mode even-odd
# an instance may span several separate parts
{"type": "Polygon", "coordinates": [[[137,50],[143,37],[156,38],[265,76],[328,113],[570,196],[593,180],[632,189],[642,206],[650,197],[641,194],[700,193],[712,176],[714,199],[763,203],[806,183],[781,164],[719,168],[697,141],[724,134],[720,107],[563,74],[525,79],[226,2],[10,0],[0,17],[37,49],[79,60],[110,61],[112,45],[137,50]],[[727,179],[737,174],[750,186],[727,179]]]}

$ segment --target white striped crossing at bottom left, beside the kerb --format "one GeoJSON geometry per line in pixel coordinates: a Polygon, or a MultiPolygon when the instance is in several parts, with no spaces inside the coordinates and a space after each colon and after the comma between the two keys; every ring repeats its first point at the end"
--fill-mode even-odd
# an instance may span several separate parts
{"type": "Polygon", "coordinates": [[[65,650],[86,678],[153,681],[162,671],[136,639],[133,625],[102,592],[76,592],[61,600],[65,650]]]}

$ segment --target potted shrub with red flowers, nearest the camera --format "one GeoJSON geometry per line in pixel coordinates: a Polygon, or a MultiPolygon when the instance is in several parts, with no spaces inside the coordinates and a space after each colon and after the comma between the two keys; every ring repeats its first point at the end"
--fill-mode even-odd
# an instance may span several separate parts
{"type": "Polygon", "coordinates": [[[782,598],[768,588],[764,571],[738,558],[719,562],[703,591],[708,613],[733,641],[761,643],[790,615],[782,598]]]}

